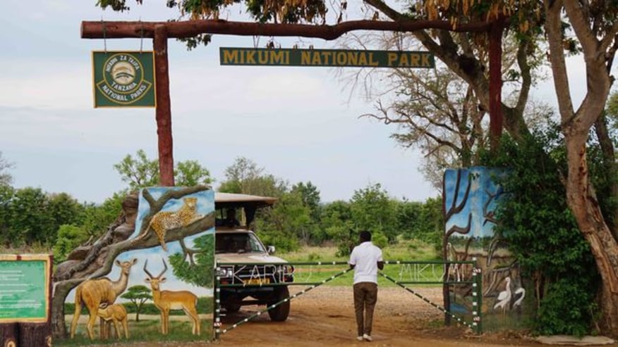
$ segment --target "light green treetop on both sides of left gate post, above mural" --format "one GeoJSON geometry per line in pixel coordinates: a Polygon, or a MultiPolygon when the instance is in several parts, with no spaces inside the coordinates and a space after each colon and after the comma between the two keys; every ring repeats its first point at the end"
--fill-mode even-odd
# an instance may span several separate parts
{"type": "MultiPolygon", "coordinates": [[[[146,152],[139,149],[135,158],[131,154],[114,165],[114,169],[121,175],[123,182],[127,182],[131,191],[144,187],[153,187],[159,184],[159,160],[148,159],[146,152]]],[[[178,187],[193,187],[198,184],[210,184],[210,171],[203,168],[195,160],[186,160],[176,163],[174,181],[178,187]]]]}

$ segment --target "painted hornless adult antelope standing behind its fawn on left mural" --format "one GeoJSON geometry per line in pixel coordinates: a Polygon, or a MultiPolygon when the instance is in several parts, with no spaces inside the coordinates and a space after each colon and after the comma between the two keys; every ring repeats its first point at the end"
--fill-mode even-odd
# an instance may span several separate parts
{"type": "Polygon", "coordinates": [[[97,320],[97,313],[99,312],[99,305],[111,305],[116,301],[116,298],[126,289],[131,266],[137,262],[138,260],[135,258],[123,262],[116,260],[116,265],[121,268],[120,277],[117,281],[112,281],[107,277],[87,279],[77,287],[75,290],[75,313],[73,314],[73,322],[71,323],[71,339],[75,337],[75,328],[77,327],[82,310],[82,303],[90,312],[90,319],[86,325],[88,336],[90,336],[91,340],[95,338],[94,328],[95,321],[97,320]]]}

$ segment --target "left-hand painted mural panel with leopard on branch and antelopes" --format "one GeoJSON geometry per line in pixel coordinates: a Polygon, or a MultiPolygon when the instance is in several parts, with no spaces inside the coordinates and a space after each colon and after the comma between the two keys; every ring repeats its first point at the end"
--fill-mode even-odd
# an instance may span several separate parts
{"type": "Polygon", "coordinates": [[[106,277],[87,279],[67,296],[75,305],[66,310],[71,337],[212,339],[214,191],[143,189],[125,242],[106,277]],[[99,317],[109,323],[98,327],[99,317]]]}

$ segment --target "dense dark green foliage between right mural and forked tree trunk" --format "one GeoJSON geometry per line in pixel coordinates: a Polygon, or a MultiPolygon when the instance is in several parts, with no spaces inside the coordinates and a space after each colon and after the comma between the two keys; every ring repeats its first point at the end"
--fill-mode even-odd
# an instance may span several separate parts
{"type": "Polygon", "coordinates": [[[500,182],[509,196],[497,208],[496,232],[509,244],[524,275],[540,289],[536,331],[581,336],[589,333],[597,312],[599,277],[590,271],[594,269],[590,246],[567,208],[565,188],[558,179],[566,163],[556,129],[517,144],[503,137],[499,156],[488,163],[509,170],[500,182]],[[554,159],[543,156],[543,151],[554,159]]]}

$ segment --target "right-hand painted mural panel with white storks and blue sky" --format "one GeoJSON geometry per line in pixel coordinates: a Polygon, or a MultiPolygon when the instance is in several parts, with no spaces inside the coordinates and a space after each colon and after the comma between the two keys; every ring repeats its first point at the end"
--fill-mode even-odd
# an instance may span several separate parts
{"type": "MultiPolygon", "coordinates": [[[[495,210],[505,194],[496,184],[506,175],[495,168],[471,167],[444,172],[444,257],[448,260],[473,260],[483,271],[483,329],[523,326],[526,297],[525,281],[519,263],[507,244],[494,232],[495,210]]],[[[451,265],[449,279],[465,282],[471,267],[451,265]]],[[[471,284],[449,286],[449,310],[470,315],[471,284]]]]}

